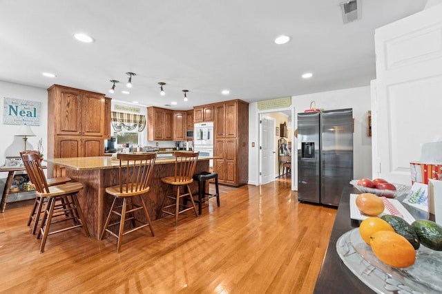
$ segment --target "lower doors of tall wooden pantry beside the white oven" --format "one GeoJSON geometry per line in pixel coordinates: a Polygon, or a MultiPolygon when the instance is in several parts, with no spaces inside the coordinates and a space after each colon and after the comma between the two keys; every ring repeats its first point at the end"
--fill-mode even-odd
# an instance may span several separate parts
{"type": "Polygon", "coordinates": [[[218,182],[227,185],[238,186],[236,139],[215,140],[215,156],[213,170],[218,173],[218,182]]]}

